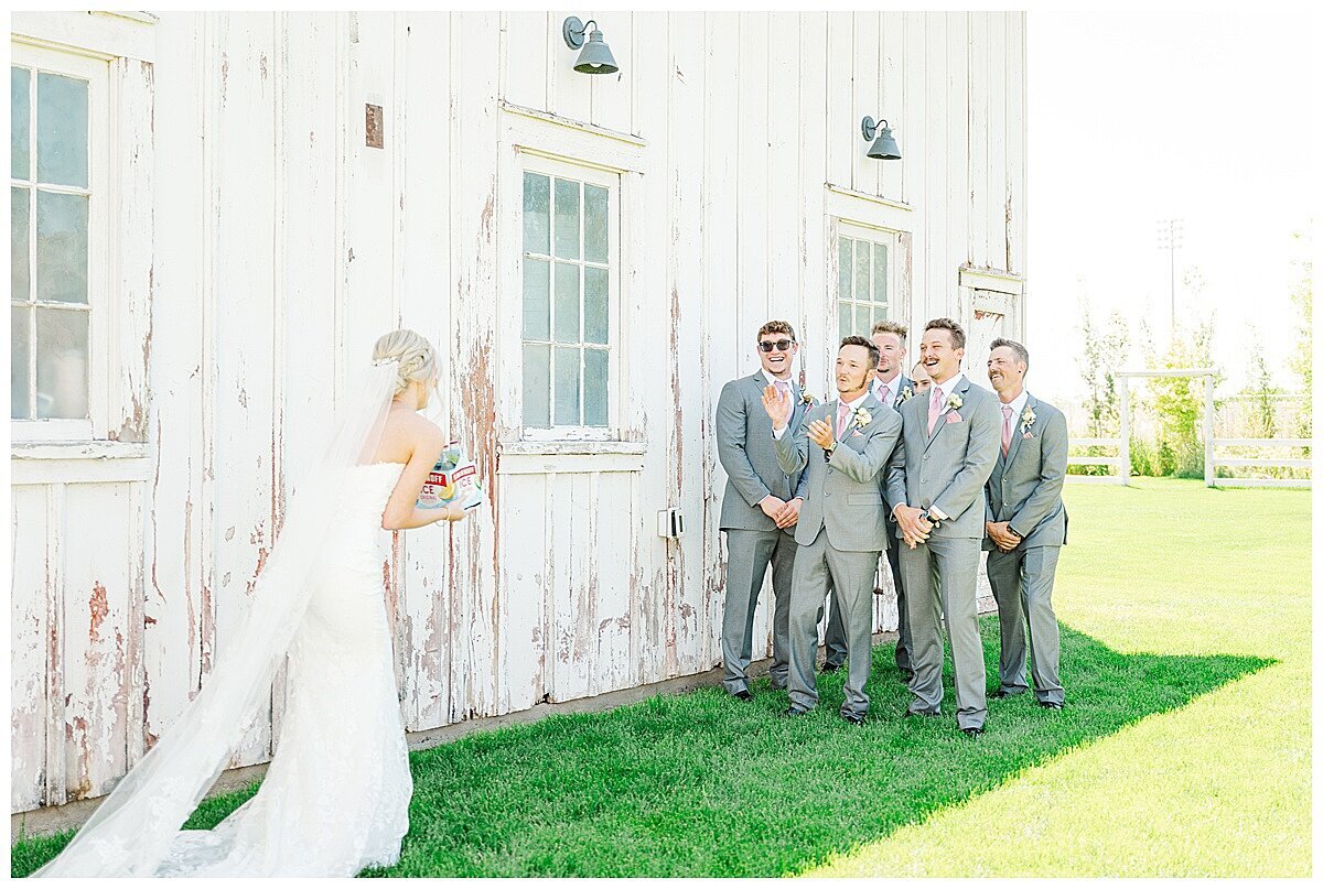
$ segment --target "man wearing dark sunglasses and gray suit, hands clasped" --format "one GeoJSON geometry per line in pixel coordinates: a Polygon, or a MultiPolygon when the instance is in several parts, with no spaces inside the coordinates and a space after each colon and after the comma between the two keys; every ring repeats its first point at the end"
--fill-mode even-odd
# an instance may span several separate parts
{"type": "Polygon", "coordinates": [[[767,321],[758,328],[757,373],[732,380],[717,401],[717,459],[726,471],[721,499],[721,530],[726,532],[726,605],[721,620],[722,684],[741,700],[751,700],[749,661],[753,657],[753,615],[758,593],[771,565],[771,685],[786,688],[790,671],[787,626],[790,581],[795,569],[795,538],[791,530],[803,504],[807,479],[785,472],[777,462],[771,421],[762,407],[762,390],[771,386],[790,410],[798,427],[807,405],[790,378],[799,345],[786,321],[767,321]]]}

